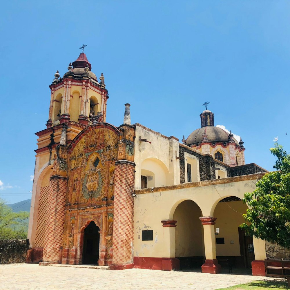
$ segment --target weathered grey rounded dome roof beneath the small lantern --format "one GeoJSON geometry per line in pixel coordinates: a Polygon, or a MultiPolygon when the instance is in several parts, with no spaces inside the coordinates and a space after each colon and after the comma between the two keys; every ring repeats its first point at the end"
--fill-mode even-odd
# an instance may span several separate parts
{"type": "MultiPolygon", "coordinates": [[[[222,128],[214,127],[214,126],[206,126],[199,129],[194,130],[186,139],[186,145],[196,144],[202,141],[204,132],[207,135],[207,139],[210,142],[228,142],[229,141],[229,133],[224,131],[222,128]]],[[[233,138],[236,144],[239,144],[238,141],[233,138]]]]}

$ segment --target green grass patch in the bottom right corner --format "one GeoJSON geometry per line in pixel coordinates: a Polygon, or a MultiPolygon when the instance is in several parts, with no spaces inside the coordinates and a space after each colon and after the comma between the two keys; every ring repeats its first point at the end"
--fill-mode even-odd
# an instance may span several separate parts
{"type": "Polygon", "coordinates": [[[287,280],[261,280],[261,281],[254,281],[246,284],[239,284],[228,288],[220,288],[217,290],[267,290],[267,289],[275,289],[275,290],[284,290],[284,289],[290,289],[287,286],[287,280]]]}

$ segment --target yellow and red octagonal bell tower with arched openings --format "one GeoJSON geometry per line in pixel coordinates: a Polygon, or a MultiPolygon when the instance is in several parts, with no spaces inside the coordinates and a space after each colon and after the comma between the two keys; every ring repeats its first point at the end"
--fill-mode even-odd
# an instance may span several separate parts
{"type": "Polygon", "coordinates": [[[85,126],[105,122],[109,95],[104,75],[101,74],[99,79],[92,72],[92,65],[84,52],[68,65],[68,71],[62,78],[57,71],[49,86],[51,97],[46,127],[69,121],[85,126]]]}

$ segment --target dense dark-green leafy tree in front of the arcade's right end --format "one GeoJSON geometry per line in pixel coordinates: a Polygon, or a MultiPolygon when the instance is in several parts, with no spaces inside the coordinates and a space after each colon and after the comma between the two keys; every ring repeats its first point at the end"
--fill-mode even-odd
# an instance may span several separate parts
{"type": "Polygon", "coordinates": [[[253,192],[245,193],[243,201],[250,208],[240,227],[255,238],[290,249],[290,154],[277,143],[270,151],[278,171],[266,173],[253,192]]]}

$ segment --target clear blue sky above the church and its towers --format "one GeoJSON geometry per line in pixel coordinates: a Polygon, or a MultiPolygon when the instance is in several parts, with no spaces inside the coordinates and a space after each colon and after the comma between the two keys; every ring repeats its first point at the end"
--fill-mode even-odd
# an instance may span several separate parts
{"type": "Polygon", "coordinates": [[[107,122],[182,139],[210,102],[215,125],[242,136],[246,163],[271,170],[289,150],[289,1],[4,1],[0,11],[0,197],[30,198],[54,73],[87,44],[104,73],[107,122]]]}

